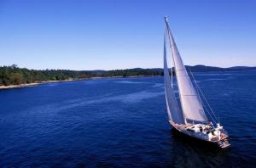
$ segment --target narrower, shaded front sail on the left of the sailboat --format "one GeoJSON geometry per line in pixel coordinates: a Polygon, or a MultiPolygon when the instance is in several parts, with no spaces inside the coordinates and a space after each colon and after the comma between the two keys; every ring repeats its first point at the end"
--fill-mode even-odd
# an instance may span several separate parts
{"type": "Polygon", "coordinates": [[[166,107],[169,120],[183,124],[183,115],[181,109],[179,109],[177,105],[177,100],[175,98],[175,94],[172,89],[172,84],[170,80],[167,60],[166,60],[166,31],[165,31],[165,39],[164,39],[164,79],[165,79],[165,91],[166,91],[166,107]]]}

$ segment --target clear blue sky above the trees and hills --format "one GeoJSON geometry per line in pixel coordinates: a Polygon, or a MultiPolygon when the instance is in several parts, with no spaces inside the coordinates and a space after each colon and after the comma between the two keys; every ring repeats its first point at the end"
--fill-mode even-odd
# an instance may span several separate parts
{"type": "Polygon", "coordinates": [[[162,67],[164,15],[185,64],[256,65],[254,0],[0,0],[0,65],[162,67]]]}

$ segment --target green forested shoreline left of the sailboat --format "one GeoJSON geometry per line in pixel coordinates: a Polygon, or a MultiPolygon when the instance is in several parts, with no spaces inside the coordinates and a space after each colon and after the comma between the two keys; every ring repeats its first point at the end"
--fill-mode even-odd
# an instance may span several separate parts
{"type": "Polygon", "coordinates": [[[0,66],[0,86],[20,85],[42,81],[79,80],[91,77],[163,76],[162,70],[28,70],[16,64],[0,66]]]}

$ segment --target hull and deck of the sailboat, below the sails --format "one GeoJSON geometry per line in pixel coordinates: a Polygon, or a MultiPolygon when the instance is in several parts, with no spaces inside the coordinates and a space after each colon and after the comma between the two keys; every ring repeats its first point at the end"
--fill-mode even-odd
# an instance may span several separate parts
{"type": "Polygon", "coordinates": [[[230,143],[228,140],[228,135],[224,132],[220,132],[219,135],[212,136],[212,132],[206,133],[206,132],[196,132],[196,126],[207,126],[202,124],[186,124],[186,125],[179,125],[172,121],[170,121],[170,125],[177,130],[177,132],[181,132],[186,136],[194,137],[195,139],[199,139],[201,141],[207,142],[207,143],[213,143],[217,145],[219,148],[228,148],[230,147],[230,143]],[[194,127],[194,132],[192,132],[191,129],[194,127]]]}

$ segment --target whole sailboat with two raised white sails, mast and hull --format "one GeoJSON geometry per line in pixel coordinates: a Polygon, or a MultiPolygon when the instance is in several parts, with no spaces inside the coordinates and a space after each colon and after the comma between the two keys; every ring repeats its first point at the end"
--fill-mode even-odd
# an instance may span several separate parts
{"type": "MultiPolygon", "coordinates": [[[[190,76],[195,81],[194,76],[190,76]]],[[[193,83],[190,80],[166,17],[164,31],[164,81],[166,109],[170,125],[177,132],[181,132],[189,137],[212,143],[220,148],[229,147],[229,136],[225,132],[224,126],[220,125],[200,87],[197,86],[196,82],[193,83]],[[171,60],[177,80],[178,98],[176,98],[173,87],[173,70],[171,68],[170,76],[170,69],[167,64],[167,40],[170,43],[170,53],[172,53],[171,60]]]]}

